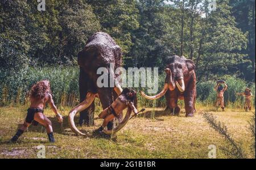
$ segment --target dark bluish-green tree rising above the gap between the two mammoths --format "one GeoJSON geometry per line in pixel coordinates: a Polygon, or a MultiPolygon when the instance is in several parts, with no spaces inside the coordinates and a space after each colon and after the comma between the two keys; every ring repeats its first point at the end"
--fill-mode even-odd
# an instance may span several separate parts
{"type": "Polygon", "coordinates": [[[139,28],[134,32],[133,48],[130,56],[133,57],[133,66],[159,66],[163,65],[166,49],[162,42],[166,33],[166,24],[162,18],[164,2],[138,1],[139,28]]]}

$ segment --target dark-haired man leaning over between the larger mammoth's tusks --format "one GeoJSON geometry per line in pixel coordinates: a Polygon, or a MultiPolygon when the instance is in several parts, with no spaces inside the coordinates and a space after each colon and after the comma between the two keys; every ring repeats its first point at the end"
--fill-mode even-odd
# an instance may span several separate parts
{"type": "Polygon", "coordinates": [[[98,117],[103,118],[104,121],[100,128],[96,131],[102,134],[104,128],[106,125],[108,125],[108,122],[112,121],[115,117],[119,118],[119,114],[127,107],[130,107],[130,109],[137,114],[138,111],[135,107],[136,105],[137,92],[129,88],[123,89],[122,93],[117,97],[117,99],[115,99],[115,101],[108,108],[104,109],[104,111],[99,114],[98,117]]]}

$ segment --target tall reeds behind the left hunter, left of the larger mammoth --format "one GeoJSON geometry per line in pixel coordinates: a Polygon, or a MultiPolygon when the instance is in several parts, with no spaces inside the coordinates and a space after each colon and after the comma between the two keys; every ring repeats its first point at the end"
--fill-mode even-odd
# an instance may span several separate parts
{"type": "Polygon", "coordinates": [[[58,105],[75,105],[79,101],[79,69],[77,67],[31,68],[22,76],[7,76],[0,83],[1,105],[24,104],[33,84],[49,80],[53,99],[58,105]]]}

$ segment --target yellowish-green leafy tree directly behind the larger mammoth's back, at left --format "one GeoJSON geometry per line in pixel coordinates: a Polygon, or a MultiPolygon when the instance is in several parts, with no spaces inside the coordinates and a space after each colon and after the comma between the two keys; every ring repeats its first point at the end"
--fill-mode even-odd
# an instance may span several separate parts
{"type": "Polygon", "coordinates": [[[40,66],[72,65],[88,37],[100,31],[100,23],[92,7],[81,0],[47,1],[46,8],[43,12],[36,8],[32,11],[35,25],[43,27],[45,40],[43,48],[36,49],[33,57],[40,66]]]}

